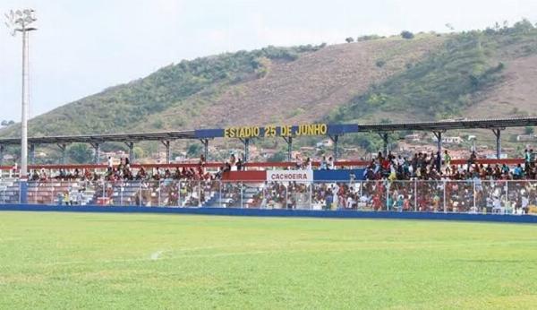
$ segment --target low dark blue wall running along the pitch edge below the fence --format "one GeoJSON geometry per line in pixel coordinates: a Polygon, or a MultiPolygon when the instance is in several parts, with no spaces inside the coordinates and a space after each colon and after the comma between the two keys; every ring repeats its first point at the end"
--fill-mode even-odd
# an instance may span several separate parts
{"type": "Polygon", "coordinates": [[[69,211],[69,212],[124,212],[124,213],[176,213],[256,217],[307,217],[333,219],[394,219],[394,220],[469,220],[510,223],[537,223],[533,215],[499,215],[466,213],[392,212],[392,211],[310,211],[310,210],[258,210],[231,208],[149,208],[57,206],[41,204],[0,204],[0,211],[69,211]]]}

